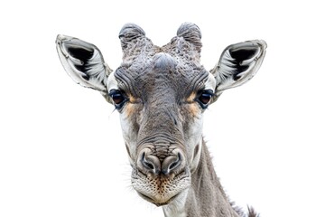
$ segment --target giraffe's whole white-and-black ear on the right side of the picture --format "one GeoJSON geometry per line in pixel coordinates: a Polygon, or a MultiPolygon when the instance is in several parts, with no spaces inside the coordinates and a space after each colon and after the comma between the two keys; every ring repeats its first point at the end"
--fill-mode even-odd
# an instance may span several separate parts
{"type": "Polygon", "coordinates": [[[258,40],[229,45],[210,71],[217,82],[217,95],[253,78],[264,60],[265,50],[266,42],[258,40]]]}

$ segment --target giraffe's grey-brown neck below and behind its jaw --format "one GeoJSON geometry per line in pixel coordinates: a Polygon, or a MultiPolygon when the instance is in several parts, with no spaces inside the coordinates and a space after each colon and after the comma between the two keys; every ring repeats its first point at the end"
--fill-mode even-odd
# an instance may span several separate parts
{"type": "Polygon", "coordinates": [[[191,175],[191,186],[183,192],[184,200],[172,202],[163,207],[165,217],[237,217],[237,212],[228,202],[214,167],[209,151],[202,142],[198,168],[191,175]]]}

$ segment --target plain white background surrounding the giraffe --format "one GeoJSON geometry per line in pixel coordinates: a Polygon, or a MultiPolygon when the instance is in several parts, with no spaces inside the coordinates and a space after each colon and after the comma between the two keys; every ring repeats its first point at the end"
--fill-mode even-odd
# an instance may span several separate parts
{"type": "Polygon", "coordinates": [[[118,32],[157,45],[200,26],[207,70],[228,44],[268,43],[255,78],[206,112],[204,132],[230,198],[263,217],[324,216],[321,1],[3,1],[0,3],[0,216],[163,216],[130,186],[118,113],[75,84],[58,33],[95,43],[112,69],[118,32]],[[105,2],[105,3],[104,3],[105,2]],[[271,3],[272,2],[272,3],[271,3]]]}

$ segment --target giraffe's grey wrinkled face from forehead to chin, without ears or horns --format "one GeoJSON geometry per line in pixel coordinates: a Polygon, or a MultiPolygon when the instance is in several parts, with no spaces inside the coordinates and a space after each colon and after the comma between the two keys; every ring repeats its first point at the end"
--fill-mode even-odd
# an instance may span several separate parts
{"type": "Polygon", "coordinates": [[[216,81],[202,66],[184,68],[167,52],[144,58],[137,59],[143,71],[122,65],[112,73],[107,90],[120,113],[132,184],[144,199],[163,205],[190,186],[216,81]]]}

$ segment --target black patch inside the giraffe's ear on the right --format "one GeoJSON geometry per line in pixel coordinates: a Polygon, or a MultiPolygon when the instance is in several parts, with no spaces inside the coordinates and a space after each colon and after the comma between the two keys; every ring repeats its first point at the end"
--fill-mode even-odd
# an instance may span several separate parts
{"type": "Polygon", "coordinates": [[[236,65],[236,71],[233,73],[233,80],[239,80],[241,78],[238,74],[249,68],[249,64],[245,64],[245,61],[255,57],[257,52],[259,52],[259,49],[255,47],[229,49],[229,53],[233,58],[232,63],[236,65]]]}

